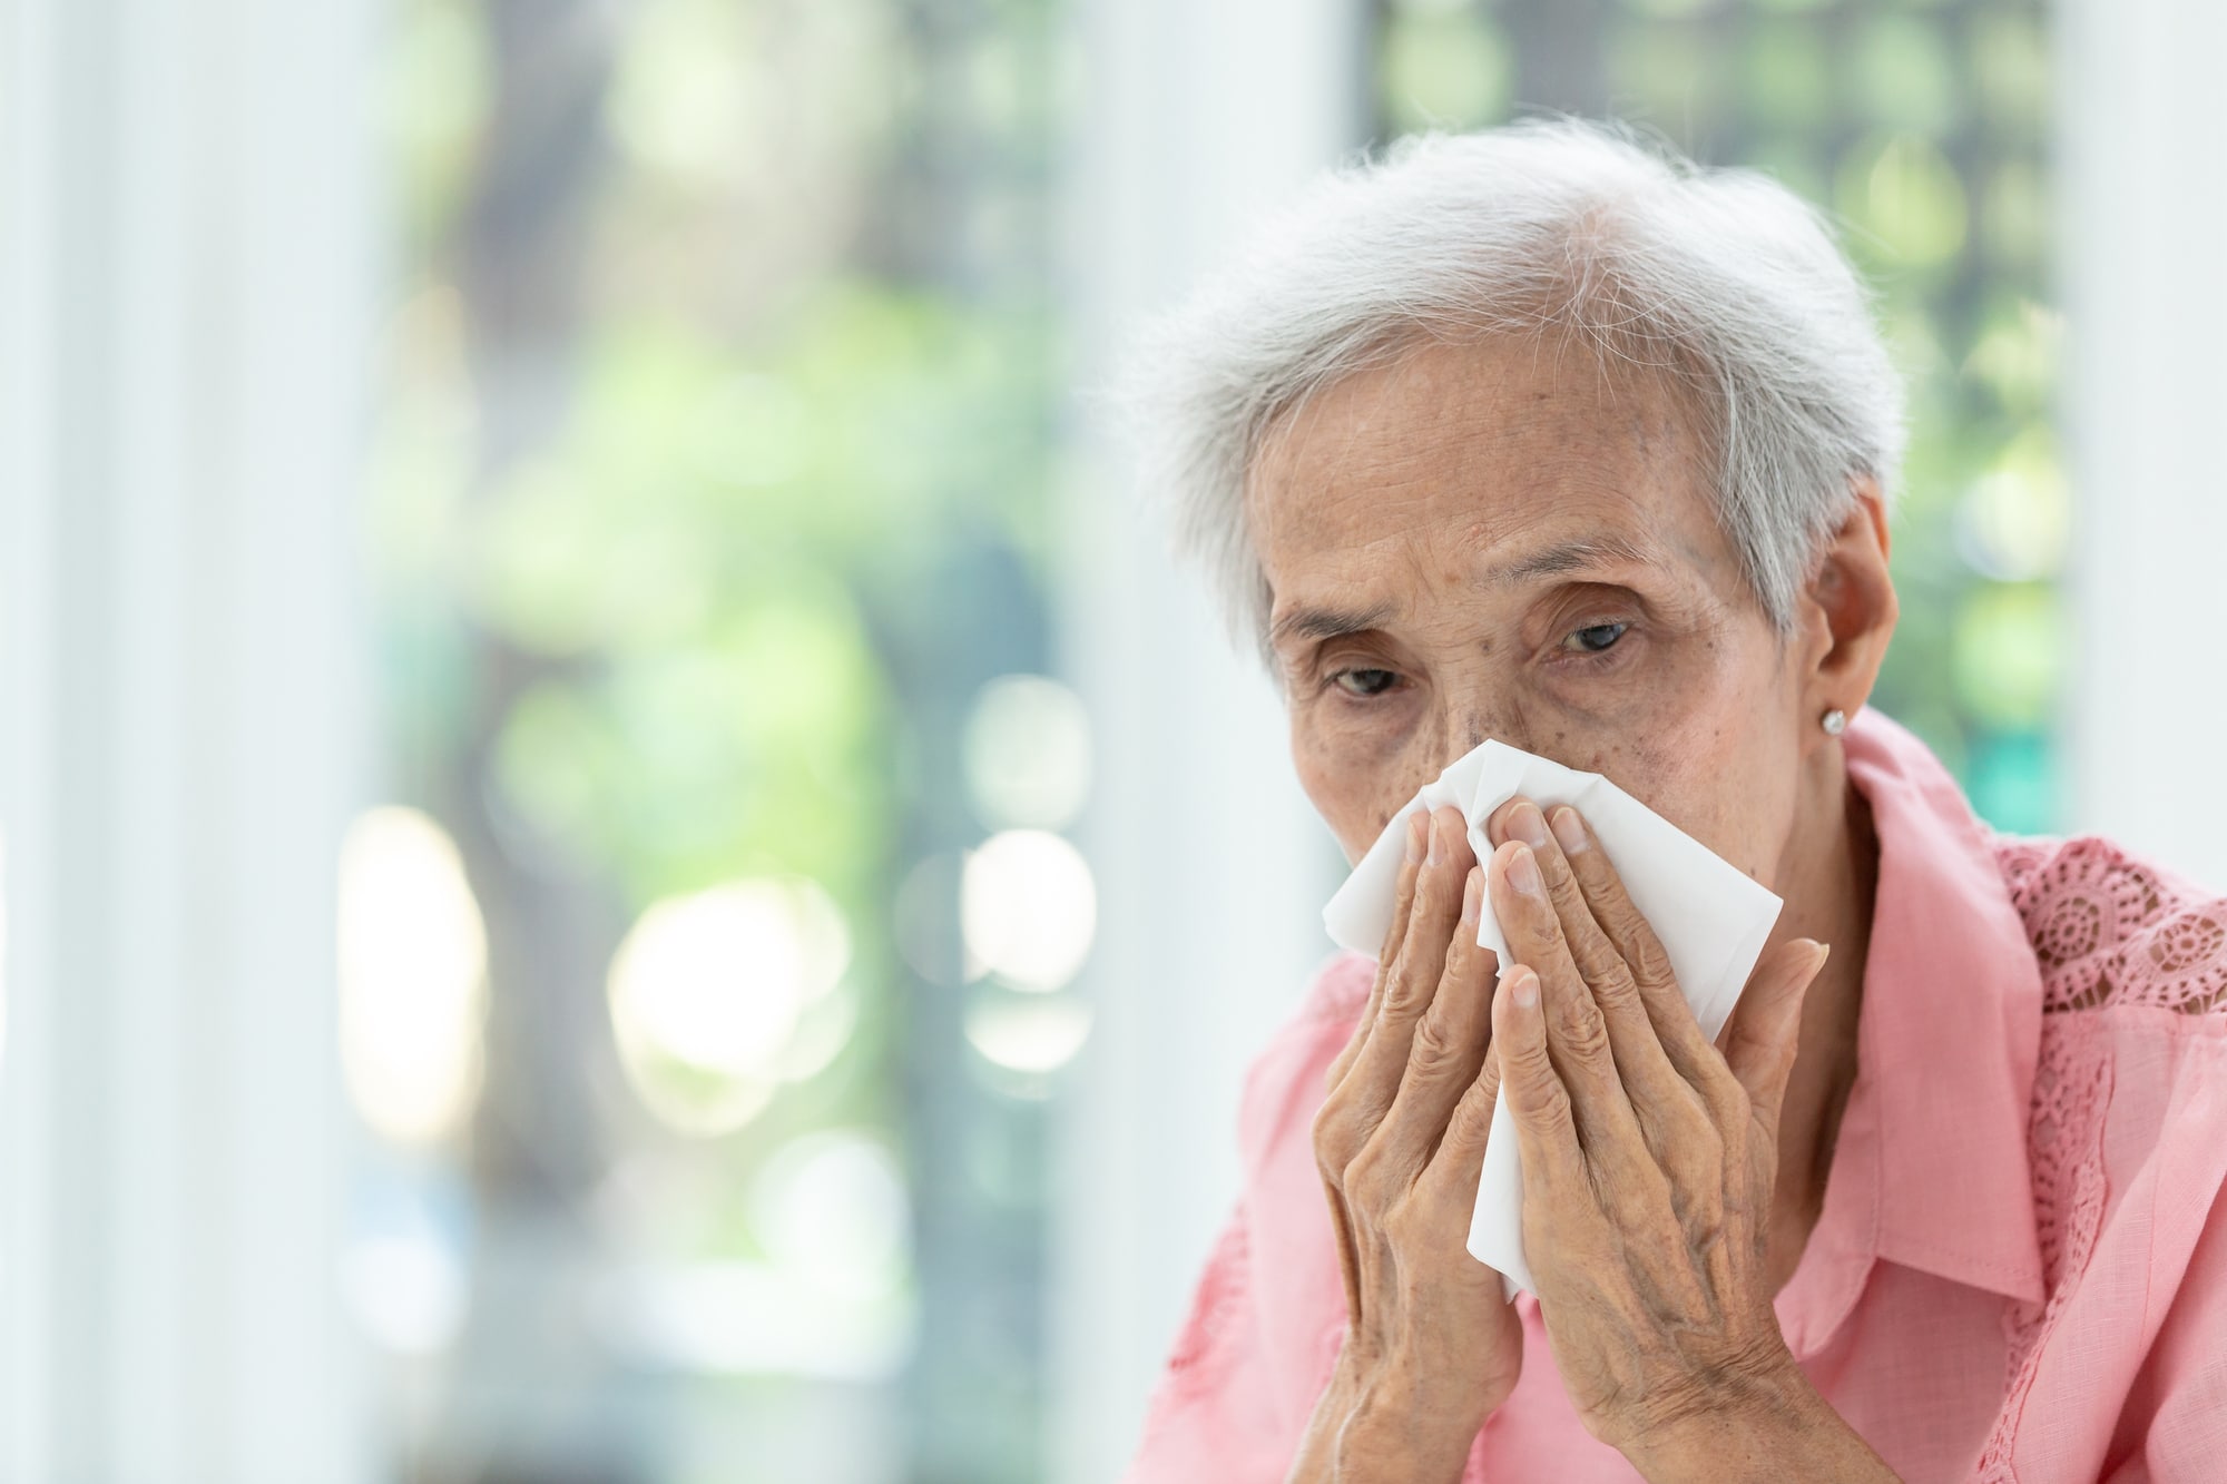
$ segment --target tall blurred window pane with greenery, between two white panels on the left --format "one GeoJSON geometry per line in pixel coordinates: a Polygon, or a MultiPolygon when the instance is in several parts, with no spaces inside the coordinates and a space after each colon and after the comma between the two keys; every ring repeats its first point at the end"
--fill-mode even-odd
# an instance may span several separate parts
{"type": "Polygon", "coordinates": [[[345,1279],[408,1480],[1040,1473],[1042,0],[399,0],[345,1279]]]}

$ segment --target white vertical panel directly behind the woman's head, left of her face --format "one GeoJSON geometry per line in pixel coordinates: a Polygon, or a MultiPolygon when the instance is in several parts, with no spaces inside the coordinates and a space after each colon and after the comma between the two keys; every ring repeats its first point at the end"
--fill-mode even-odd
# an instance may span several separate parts
{"type": "MultiPolygon", "coordinates": [[[[1071,303],[1091,385],[1245,225],[1361,143],[1358,0],[1080,0],[1071,303]]],[[[1069,677],[1098,738],[1089,1049],[1053,1150],[1056,1471],[1111,1480],[1238,1188],[1245,1063],[1327,956],[1336,849],[1281,702],[1200,579],[1078,430],[1060,573],[1069,677]]]]}

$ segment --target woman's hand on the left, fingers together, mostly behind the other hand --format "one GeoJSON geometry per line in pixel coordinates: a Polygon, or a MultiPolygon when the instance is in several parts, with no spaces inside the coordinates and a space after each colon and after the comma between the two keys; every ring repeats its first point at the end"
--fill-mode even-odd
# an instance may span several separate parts
{"type": "Polygon", "coordinates": [[[1392,931],[1330,1067],[1314,1152],[1345,1272],[1347,1335],[1294,1477],[1454,1480],[1517,1384],[1523,1326],[1468,1252],[1492,1127],[1497,963],[1459,809],[1410,822],[1392,931]]]}

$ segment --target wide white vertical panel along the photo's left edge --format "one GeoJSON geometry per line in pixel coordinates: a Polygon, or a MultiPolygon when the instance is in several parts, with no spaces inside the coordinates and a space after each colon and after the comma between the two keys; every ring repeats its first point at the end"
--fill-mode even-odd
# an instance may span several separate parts
{"type": "Polygon", "coordinates": [[[374,0],[0,11],[0,1477],[356,1480],[374,0]]]}

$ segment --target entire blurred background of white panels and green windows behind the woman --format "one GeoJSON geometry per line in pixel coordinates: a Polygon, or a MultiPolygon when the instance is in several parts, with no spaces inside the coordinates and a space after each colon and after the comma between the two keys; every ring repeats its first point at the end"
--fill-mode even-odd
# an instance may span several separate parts
{"type": "Polygon", "coordinates": [[[1089,390],[1405,131],[1824,205],[1913,392],[1877,704],[2227,880],[2223,47],[0,0],[0,1477],[1111,1480],[1343,865],[1089,390]]]}

